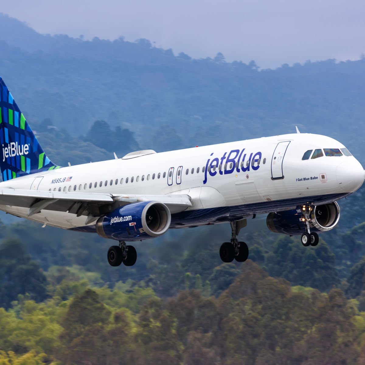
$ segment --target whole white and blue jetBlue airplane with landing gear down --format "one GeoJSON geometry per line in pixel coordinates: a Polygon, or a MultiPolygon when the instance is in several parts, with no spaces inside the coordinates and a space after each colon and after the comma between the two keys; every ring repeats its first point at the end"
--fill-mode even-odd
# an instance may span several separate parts
{"type": "Polygon", "coordinates": [[[170,228],[230,223],[223,262],[244,262],[238,241],[248,218],[267,214],[268,228],[300,235],[316,246],[318,233],[340,217],[338,199],[361,187],[364,169],[346,147],[324,135],[296,133],[62,167],[39,145],[0,77],[0,210],[118,241],[111,266],[132,266],[127,242],[159,237],[170,228]]]}

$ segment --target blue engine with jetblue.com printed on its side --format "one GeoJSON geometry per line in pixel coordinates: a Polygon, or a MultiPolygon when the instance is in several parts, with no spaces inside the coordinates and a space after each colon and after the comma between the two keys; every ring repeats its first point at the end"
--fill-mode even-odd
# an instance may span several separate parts
{"type": "Polygon", "coordinates": [[[96,233],[118,241],[139,241],[158,237],[170,227],[171,214],[165,204],[141,201],[124,205],[96,222],[96,233]]]}

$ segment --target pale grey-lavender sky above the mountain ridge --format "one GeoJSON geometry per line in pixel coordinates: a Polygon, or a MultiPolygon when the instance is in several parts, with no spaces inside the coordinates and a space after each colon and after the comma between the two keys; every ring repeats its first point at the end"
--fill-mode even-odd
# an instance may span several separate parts
{"type": "Polygon", "coordinates": [[[365,53],[364,0],[0,0],[42,34],[147,38],[193,58],[222,52],[261,68],[365,53]]]}

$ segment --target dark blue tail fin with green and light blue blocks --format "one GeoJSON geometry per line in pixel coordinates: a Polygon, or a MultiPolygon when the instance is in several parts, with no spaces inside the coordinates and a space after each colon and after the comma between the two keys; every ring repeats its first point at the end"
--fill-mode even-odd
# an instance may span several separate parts
{"type": "Polygon", "coordinates": [[[59,168],[44,153],[1,77],[0,151],[3,181],[59,168]]]}

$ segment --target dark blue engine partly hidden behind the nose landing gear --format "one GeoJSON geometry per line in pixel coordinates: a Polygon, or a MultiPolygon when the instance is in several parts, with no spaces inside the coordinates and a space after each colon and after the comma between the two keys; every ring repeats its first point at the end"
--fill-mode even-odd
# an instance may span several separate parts
{"type": "MultiPolygon", "coordinates": [[[[306,231],[306,225],[301,221],[300,209],[269,213],[266,224],[274,233],[300,235],[306,231]]],[[[335,227],[340,218],[340,207],[332,203],[316,205],[311,213],[311,232],[326,232],[335,227]]]]}

